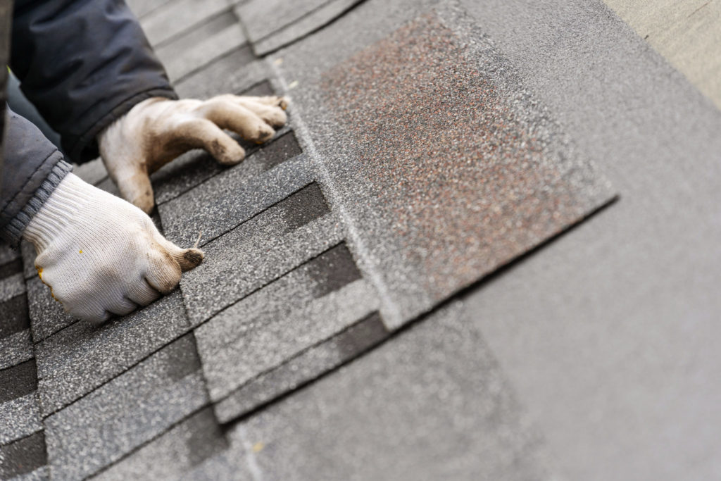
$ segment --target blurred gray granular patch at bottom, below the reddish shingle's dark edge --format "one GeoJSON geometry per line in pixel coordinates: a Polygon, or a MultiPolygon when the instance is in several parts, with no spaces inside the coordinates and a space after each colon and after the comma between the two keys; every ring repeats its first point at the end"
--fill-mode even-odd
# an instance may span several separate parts
{"type": "Polygon", "coordinates": [[[543,441],[459,303],[228,436],[265,445],[254,457],[262,479],[553,479],[543,441]]]}

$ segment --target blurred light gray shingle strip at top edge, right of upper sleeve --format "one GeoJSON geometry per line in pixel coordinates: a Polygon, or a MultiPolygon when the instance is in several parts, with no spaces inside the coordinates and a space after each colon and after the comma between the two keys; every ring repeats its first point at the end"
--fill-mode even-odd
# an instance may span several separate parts
{"type": "Polygon", "coordinates": [[[227,0],[174,0],[143,17],[141,26],[151,45],[159,47],[226,9],[227,0]]]}

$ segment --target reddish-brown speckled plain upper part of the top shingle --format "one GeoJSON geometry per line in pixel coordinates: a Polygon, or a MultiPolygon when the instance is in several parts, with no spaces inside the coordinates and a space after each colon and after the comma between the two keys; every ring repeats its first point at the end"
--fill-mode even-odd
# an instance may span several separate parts
{"type": "Polygon", "coordinates": [[[361,268],[389,299],[381,314],[394,328],[614,192],[462,12],[443,7],[371,45],[370,34],[349,41],[349,28],[400,25],[380,9],[279,55],[283,75],[303,86],[293,102],[314,160],[348,214],[361,268]]]}

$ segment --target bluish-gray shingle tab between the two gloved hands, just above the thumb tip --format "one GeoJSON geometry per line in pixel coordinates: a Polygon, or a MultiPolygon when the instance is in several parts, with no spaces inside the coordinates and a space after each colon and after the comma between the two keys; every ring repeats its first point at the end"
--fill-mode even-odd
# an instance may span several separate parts
{"type": "Polygon", "coordinates": [[[158,206],[165,236],[191,246],[202,231],[201,245],[207,244],[314,180],[304,154],[259,175],[246,173],[257,167],[240,164],[158,206]]]}

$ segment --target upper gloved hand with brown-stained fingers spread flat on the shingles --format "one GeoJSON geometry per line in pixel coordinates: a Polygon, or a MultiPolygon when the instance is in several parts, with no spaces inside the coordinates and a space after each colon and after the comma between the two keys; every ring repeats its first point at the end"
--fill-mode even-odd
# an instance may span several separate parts
{"type": "Polygon", "coordinates": [[[245,151],[223,129],[260,144],[286,123],[287,105],[283,97],[220,95],[205,102],[154,97],[99,134],[100,155],[123,198],[149,213],[150,174],[190,149],[205,149],[221,164],[241,162],[245,151]]]}

